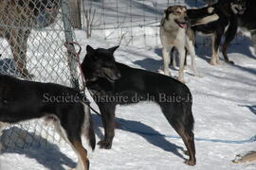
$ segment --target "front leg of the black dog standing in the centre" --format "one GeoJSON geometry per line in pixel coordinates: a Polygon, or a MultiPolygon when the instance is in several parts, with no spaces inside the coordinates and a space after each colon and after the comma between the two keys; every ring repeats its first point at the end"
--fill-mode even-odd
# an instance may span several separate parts
{"type": "Polygon", "coordinates": [[[108,103],[108,104],[99,104],[98,105],[101,110],[101,120],[104,127],[104,140],[100,141],[101,148],[110,149],[112,146],[112,141],[115,136],[115,110],[116,105],[108,103]]]}

